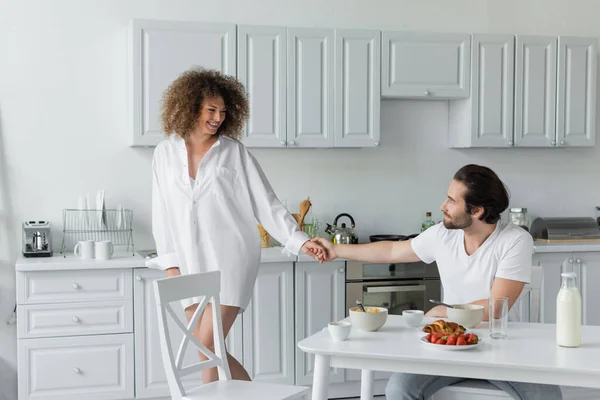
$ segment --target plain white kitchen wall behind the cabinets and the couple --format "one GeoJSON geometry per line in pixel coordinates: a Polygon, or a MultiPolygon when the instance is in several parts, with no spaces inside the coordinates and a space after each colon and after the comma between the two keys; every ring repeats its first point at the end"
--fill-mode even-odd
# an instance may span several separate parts
{"type": "MultiPolygon", "coordinates": [[[[152,150],[128,147],[131,18],[287,26],[600,36],[595,0],[0,0],[0,361],[16,362],[13,262],[20,223],[47,219],[99,188],[134,210],[138,248],[150,236],[152,150]],[[294,9],[292,9],[294,7],[294,9]]],[[[593,216],[598,149],[450,150],[445,102],[384,101],[382,147],[256,150],[291,207],[310,196],[328,222],[341,212],[370,233],[413,233],[436,211],[454,171],[494,168],[512,204],[538,215],[593,216]]],[[[0,370],[1,371],[1,370],[0,370]]],[[[0,399],[1,399],[0,395],[0,399]]]]}

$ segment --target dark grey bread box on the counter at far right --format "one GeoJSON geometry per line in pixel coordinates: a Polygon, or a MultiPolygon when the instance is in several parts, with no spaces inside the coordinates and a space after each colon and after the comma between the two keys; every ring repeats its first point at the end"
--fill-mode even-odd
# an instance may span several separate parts
{"type": "Polygon", "coordinates": [[[600,242],[598,223],[591,217],[536,218],[530,232],[538,242],[600,242]]]}

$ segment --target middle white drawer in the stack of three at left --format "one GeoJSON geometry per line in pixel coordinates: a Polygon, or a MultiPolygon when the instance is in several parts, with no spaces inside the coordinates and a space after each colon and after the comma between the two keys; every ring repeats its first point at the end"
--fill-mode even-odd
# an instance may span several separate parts
{"type": "Polygon", "coordinates": [[[19,305],[19,338],[133,333],[131,300],[19,305]]]}

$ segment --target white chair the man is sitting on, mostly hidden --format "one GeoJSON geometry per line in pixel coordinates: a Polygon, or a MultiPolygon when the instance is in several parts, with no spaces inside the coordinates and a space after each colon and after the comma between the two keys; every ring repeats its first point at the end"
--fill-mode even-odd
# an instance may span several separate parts
{"type": "MultiPolygon", "coordinates": [[[[529,321],[539,322],[540,290],[544,279],[543,267],[531,267],[531,282],[525,284],[513,308],[517,309],[519,316],[523,315],[523,306],[529,302],[529,321]]],[[[521,319],[521,318],[520,318],[521,319]]],[[[529,322],[523,321],[523,322],[529,322]]],[[[510,332],[509,332],[510,334],[510,332]]],[[[467,379],[456,385],[445,387],[435,393],[429,400],[499,400],[510,399],[504,391],[485,380],[467,379]]]]}

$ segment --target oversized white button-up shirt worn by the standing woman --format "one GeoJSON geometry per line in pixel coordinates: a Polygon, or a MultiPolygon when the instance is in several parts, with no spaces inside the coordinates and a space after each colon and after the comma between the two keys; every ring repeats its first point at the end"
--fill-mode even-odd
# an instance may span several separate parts
{"type": "MultiPolygon", "coordinates": [[[[221,304],[248,305],[260,263],[260,223],[298,254],[309,237],[277,199],[258,162],[238,140],[220,136],[188,171],[183,139],[158,144],[152,160],[152,233],[158,256],[146,265],[182,275],[221,271],[221,304]]],[[[182,301],[185,307],[199,298],[182,301]]]]}

